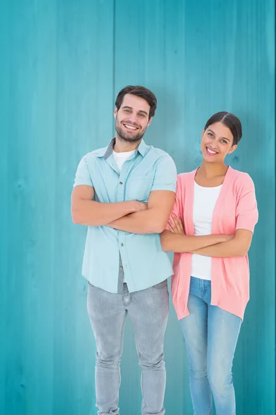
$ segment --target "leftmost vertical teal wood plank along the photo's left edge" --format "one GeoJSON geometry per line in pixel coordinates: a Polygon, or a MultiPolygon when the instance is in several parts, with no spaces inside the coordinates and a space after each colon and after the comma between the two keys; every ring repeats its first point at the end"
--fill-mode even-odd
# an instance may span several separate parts
{"type": "Polygon", "coordinates": [[[5,414],[49,414],[53,397],[55,3],[10,12],[5,414]]]}

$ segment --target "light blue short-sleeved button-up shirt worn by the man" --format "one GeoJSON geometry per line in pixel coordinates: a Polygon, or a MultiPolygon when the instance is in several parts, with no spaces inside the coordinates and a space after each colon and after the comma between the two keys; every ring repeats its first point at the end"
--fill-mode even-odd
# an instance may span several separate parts
{"type": "MultiPolygon", "coordinates": [[[[151,190],[176,190],[176,167],[165,151],[142,140],[119,173],[113,158],[114,138],[108,147],[86,154],[77,167],[75,184],[94,187],[95,201],[147,202],[151,190]]],[[[160,234],[132,234],[109,226],[89,226],[82,275],[109,293],[118,293],[119,264],[129,292],[140,291],[172,275],[172,264],[162,250],[160,234]]]]}

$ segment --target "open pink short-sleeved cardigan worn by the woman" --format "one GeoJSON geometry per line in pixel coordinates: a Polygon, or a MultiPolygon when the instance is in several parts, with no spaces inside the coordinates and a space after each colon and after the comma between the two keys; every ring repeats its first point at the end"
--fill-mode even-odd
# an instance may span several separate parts
{"type": "MultiPolygon", "coordinates": [[[[176,201],[172,212],[180,216],[187,235],[194,235],[194,176],[178,174],[176,201]]],[[[237,229],[254,231],[258,220],[255,187],[247,173],[228,168],[219,199],[214,208],[212,234],[234,234],[237,229]]],[[[187,299],[190,291],[192,254],[174,254],[172,300],[178,320],[189,315],[187,299]]],[[[249,299],[249,264],[245,257],[212,257],[211,304],[243,319],[249,299]]]]}

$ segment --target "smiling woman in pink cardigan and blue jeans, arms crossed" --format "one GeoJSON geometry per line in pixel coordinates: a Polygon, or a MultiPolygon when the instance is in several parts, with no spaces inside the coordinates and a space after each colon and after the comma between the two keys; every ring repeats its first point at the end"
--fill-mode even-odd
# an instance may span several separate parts
{"type": "Polygon", "coordinates": [[[194,415],[234,415],[232,360],[249,299],[248,250],[258,219],[250,176],[225,164],[241,122],[220,112],[201,134],[201,167],[178,175],[163,250],[176,252],[172,297],[185,338],[194,415]]]}

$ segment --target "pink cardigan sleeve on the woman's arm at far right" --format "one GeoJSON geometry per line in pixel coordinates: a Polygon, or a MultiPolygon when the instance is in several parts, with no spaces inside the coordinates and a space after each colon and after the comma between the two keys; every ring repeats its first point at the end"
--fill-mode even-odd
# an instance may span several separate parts
{"type": "Polygon", "coordinates": [[[239,185],[236,208],[236,230],[246,229],[254,232],[258,216],[255,186],[249,174],[244,174],[239,185]]]}

